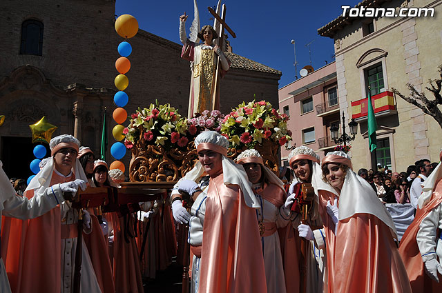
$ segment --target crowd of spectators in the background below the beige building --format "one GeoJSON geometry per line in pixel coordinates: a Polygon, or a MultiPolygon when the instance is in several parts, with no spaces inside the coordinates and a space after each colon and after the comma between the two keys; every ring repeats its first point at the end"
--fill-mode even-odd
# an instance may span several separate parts
{"type": "Polygon", "coordinates": [[[422,192],[421,183],[430,176],[437,164],[422,159],[408,166],[407,172],[400,173],[392,172],[386,165],[382,167],[378,164],[377,170],[359,169],[358,175],[372,185],[383,203],[412,203],[416,208],[417,198],[422,192]]]}

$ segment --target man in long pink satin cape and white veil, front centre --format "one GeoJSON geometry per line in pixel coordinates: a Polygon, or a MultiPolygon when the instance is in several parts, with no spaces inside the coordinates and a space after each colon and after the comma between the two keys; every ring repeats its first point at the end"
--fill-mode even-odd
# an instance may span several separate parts
{"type": "Polygon", "coordinates": [[[260,205],[247,174],[227,158],[229,141],[218,132],[202,132],[195,145],[210,176],[198,292],[267,292],[255,211],[260,205]]]}

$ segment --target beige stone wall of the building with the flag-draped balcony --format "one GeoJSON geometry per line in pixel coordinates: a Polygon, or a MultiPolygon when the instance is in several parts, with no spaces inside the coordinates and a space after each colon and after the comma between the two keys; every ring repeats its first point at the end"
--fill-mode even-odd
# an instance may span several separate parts
{"type": "MultiPolygon", "coordinates": [[[[401,3],[402,1],[392,1],[385,7],[399,6],[401,3]]],[[[375,21],[376,31],[366,37],[362,35],[361,21],[354,21],[336,34],[338,87],[340,93],[346,94],[348,103],[340,103],[342,110],[351,114],[351,101],[366,97],[361,84],[363,70],[356,63],[365,52],[373,48],[387,52],[387,56],[378,61],[385,64],[384,81],[388,90],[396,88],[403,94],[408,94],[406,83],[410,82],[432,98],[425,86],[428,79],[439,77],[437,66],[442,64],[442,1],[411,1],[409,5],[425,7],[428,3],[433,3],[436,9],[433,18],[381,18],[375,21]]],[[[362,63],[373,59],[376,54],[379,53],[370,54],[362,63]]],[[[343,96],[340,94],[340,97],[343,96]]],[[[377,119],[378,138],[388,137],[392,144],[392,169],[401,172],[407,165],[424,157],[439,161],[442,147],[442,130],[439,124],[400,97],[396,97],[396,102],[397,114],[377,119]]],[[[366,122],[361,123],[360,131],[365,132],[366,125],[366,122]]],[[[352,145],[354,169],[370,168],[368,139],[364,139],[360,132],[352,145]]]]}

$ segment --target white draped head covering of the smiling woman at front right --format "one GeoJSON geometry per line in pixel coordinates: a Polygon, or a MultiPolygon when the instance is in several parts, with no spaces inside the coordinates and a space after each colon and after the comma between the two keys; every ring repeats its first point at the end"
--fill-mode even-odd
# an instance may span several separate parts
{"type": "Polygon", "coordinates": [[[332,162],[343,163],[348,167],[340,194],[332,188],[332,185],[325,183],[322,178],[320,178],[322,172],[320,173],[320,176],[315,176],[315,179],[312,180],[312,184],[314,181],[315,189],[327,190],[338,196],[339,221],[347,219],[354,214],[373,214],[383,221],[385,225],[390,227],[392,236],[394,239],[397,239],[396,226],[393,223],[392,216],[390,216],[390,213],[385,206],[379,201],[372,186],[352,170],[352,161],[348,154],[341,151],[329,152],[324,157],[322,163],[332,162]]]}

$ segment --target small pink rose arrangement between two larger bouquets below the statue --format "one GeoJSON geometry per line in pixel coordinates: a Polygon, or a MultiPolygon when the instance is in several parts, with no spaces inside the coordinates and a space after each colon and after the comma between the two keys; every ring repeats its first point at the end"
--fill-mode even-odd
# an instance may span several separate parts
{"type": "Polygon", "coordinates": [[[195,114],[195,117],[187,120],[189,132],[191,135],[198,135],[204,130],[220,132],[223,119],[224,114],[218,110],[204,110],[201,114],[195,114]]]}

